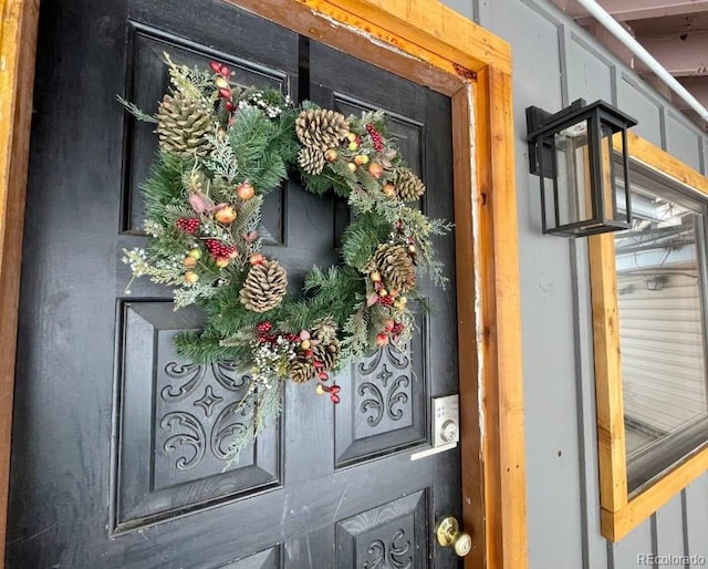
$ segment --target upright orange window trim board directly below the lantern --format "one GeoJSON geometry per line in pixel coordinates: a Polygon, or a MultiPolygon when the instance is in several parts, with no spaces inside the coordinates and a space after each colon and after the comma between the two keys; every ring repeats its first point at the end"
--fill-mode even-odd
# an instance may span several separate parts
{"type": "Polygon", "coordinates": [[[589,247],[596,377],[600,503],[604,509],[616,511],[627,504],[627,458],[614,236],[612,234],[592,236],[589,238],[589,247]]]}

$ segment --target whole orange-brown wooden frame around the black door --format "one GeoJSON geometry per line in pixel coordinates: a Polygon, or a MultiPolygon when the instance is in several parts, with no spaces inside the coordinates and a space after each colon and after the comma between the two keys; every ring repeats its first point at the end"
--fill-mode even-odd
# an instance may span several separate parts
{"type": "MultiPolygon", "coordinates": [[[[509,45],[431,0],[226,1],[451,97],[464,525],[475,544],[465,566],[525,569],[509,45]]],[[[38,4],[0,0],[0,569],[38,4]]]]}

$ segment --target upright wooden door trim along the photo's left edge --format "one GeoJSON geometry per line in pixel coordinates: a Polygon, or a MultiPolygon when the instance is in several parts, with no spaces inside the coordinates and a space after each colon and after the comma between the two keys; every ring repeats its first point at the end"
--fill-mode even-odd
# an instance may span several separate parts
{"type": "Polygon", "coordinates": [[[10,478],[10,441],[22,227],[30,151],[39,0],[0,0],[0,569],[10,478]]]}

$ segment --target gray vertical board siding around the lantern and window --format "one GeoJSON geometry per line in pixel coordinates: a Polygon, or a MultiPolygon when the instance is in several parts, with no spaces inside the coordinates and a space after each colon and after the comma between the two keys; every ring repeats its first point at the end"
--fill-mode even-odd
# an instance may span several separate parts
{"type": "Polygon", "coordinates": [[[604,99],[639,121],[638,135],[704,174],[706,137],[548,1],[445,1],[513,54],[530,569],[652,567],[639,565],[642,554],[708,557],[706,474],[618,544],[600,534],[587,245],[541,235],[524,110],[604,99]]]}

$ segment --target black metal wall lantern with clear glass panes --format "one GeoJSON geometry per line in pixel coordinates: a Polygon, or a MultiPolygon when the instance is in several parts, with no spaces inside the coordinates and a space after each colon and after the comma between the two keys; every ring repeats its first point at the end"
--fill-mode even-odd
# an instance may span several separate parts
{"type": "Polygon", "coordinates": [[[584,237],[629,227],[627,128],[636,124],[603,101],[579,99],[555,114],[527,108],[529,168],[541,178],[544,234],[584,237]],[[622,148],[613,146],[620,132],[622,148]]]}

